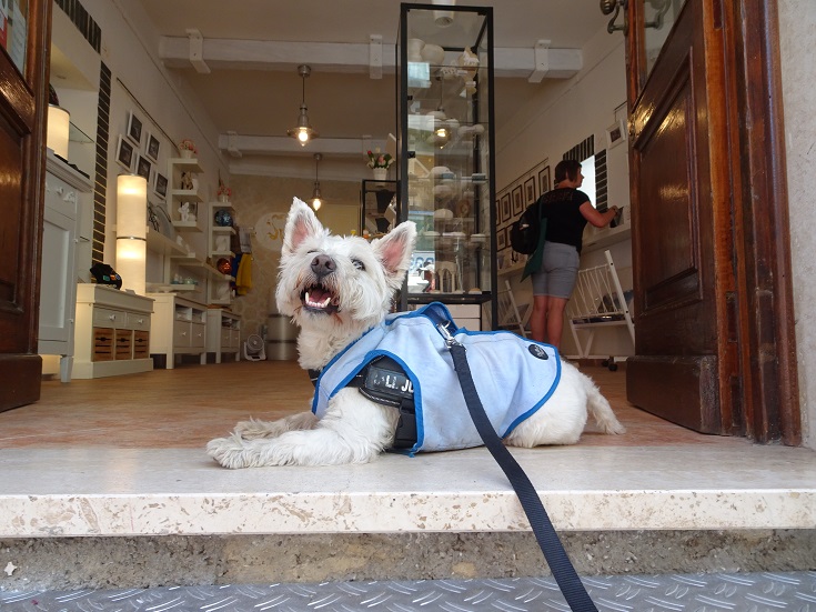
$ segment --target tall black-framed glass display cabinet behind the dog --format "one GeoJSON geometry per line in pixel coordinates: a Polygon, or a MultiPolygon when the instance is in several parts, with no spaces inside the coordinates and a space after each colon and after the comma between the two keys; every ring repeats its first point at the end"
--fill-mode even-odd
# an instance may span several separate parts
{"type": "Polygon", "coordinates": [[[493,10],[403,3],[399,37],[400,218],[419,234],[401,305],[495,322],[493,10]]]}

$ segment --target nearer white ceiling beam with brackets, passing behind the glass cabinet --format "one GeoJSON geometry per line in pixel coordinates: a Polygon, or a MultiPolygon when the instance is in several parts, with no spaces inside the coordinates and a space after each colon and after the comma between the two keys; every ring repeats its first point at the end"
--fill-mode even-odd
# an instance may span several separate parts
{"type": "MultiPolygon", "coordinates": [[[[372,42],[282,42],[274,40],[204,39],[202,63],[210,70],[296,71],[305,63],[315,71],[369,73],[382,76],[396,71],[393,44],[383,44],[381,63],[372,67],[372,42]]],[[[191,40],[185,37],[161,37],[159,57],[170,68],[191,68],[191,40]]],[[[449,60],[453,61],[453,53],[449,60]]],[[[494,74],[505,79],[568,79],[583,68],[580,49],[536,48],[494,49],[494,74]]],[[[534,81],[537,82],[537,81],[534,81]]]]}

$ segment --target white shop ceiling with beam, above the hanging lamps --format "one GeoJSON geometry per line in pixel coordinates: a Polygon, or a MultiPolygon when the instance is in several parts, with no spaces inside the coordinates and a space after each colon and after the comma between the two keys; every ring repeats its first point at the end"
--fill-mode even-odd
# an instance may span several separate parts
{"type": "MultiPolygon", "coordinates": [[[[321,151],[321,141],[324,148],[331,141],[342,149],[347,140],[359,154],[364,134],[376,142],[395,132],[393,64],[400,2],[138,1],[163,37],[160,57],[198,94],[220,133],[273,137],[263,139],[261,148],[266,150],[262,154],[311,158],[321,151]],[[200,73],[190,62],[190,29],[201,32],[209,73],[200,73]],[[382,37],[380,79],[370,76],[372,36],[382,37]],[[286,130],[296,124],[301,104],[301,63],[312,67],[305,81],[305,100],[311,123],[321,134],[304,149],[285,138],[286,130]]],[[[515,100],[525,98],[533,88],[546,87],[548,78],[541,83],[527,81],[535,66],[533,50],[537,41],[551,41],[554,67],[562,61],[570,63],[572,57],[558,50],[580,50],[608,21],[597,0],[483,0],[478,6],[492,6],[494,13],[497,127],[515,112],[515,100]],[[504,53],[503,70],[498,67],[498,50],[504,53]]],[[[242,162],[249,162],[252,154],[244,150],[242,162]]]]}

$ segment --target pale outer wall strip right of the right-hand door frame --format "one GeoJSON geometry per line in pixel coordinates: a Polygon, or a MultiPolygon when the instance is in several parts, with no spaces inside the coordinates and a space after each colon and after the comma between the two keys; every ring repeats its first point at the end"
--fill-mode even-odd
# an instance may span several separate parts
{"type": "Polygon", "coordinates": [[[816,2],[779,0],[778,7],[799,405],[804,445],[816,449],[816,2]]]}

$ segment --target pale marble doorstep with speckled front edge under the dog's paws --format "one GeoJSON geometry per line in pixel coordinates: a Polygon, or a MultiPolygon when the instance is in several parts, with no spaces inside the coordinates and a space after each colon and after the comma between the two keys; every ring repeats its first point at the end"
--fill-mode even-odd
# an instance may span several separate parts
{"type": "MultiPolygon", "coordinates": [[[[513,449],[556,529],[816,526],[806,449],[513,449]]],[[[527,530],[485,449],[230,471],[197,449],[0,450],[0,538],[527,530]]]]}

